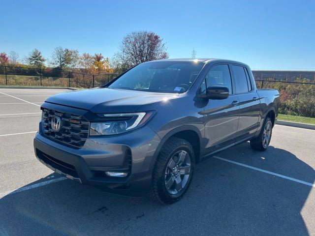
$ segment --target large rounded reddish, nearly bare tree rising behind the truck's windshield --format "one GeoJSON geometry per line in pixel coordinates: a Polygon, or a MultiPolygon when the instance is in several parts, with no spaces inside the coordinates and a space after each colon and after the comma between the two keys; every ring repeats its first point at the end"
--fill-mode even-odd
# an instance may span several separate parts
{"type": "Polygon", "coordinates": [[[163,39],[152,31],[133,31],[122,41],[117,54],[119,63],[128,67],[156,59],[168,58],[163,39]]]}

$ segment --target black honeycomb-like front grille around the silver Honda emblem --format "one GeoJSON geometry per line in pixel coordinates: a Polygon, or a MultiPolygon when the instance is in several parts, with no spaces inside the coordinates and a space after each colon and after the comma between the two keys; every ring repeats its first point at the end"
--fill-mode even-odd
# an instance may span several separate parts
{"type": "Polygon", "coordinates": [[[65,112],[43,109],[43,131],[49,139],[64,145],[81,148],[89,135],[90,123],[82,116],[65,112]],[[60,130],[52,129],[52,118],[61,119],[60,130]]]}

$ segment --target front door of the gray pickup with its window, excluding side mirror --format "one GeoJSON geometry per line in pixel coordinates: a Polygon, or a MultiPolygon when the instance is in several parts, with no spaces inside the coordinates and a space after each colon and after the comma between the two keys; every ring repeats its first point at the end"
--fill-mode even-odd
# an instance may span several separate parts
{"type": "Polygon", "coordinates": [[[202,87],[205,89],[212,85],[228,87],[229,97],[221,100],[209,99],[204,107],[207,152],[234,142],[239,119],[238,97],[233,94],[228,64],[215,64],[209,69],[202,87]]]}

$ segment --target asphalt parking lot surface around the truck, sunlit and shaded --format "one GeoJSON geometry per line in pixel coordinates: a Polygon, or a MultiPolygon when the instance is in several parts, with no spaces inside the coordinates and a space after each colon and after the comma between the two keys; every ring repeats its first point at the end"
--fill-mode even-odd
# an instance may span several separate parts
{"type": "Polygon", "coordinates": [[[315,130],[276,125],[201,162],[163,206],[64,179],[39,163],[40,104],[65,89],[0,89],[0,235],[315,235],[315,130]]]}

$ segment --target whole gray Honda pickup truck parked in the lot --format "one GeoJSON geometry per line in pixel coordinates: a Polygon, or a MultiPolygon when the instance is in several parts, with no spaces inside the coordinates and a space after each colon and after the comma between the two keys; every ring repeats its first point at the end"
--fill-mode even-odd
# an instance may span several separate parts
{"type": "Polygon", "coordinates": [[[246,64],[150,61],[104,87],[48,98],[34,150],[44,165],[82,184],[171,204],[204,158],[247,141],[266,150],[278,108],[279,92],[256,89],[246,64]]]}

